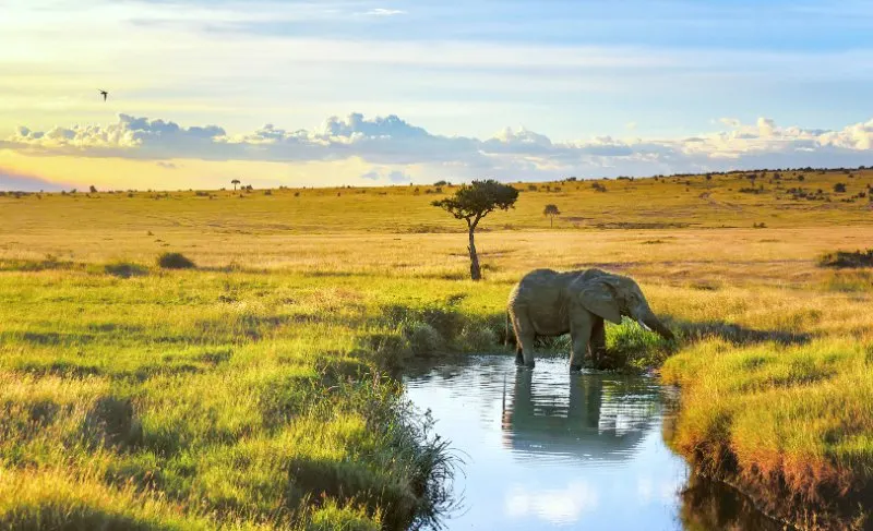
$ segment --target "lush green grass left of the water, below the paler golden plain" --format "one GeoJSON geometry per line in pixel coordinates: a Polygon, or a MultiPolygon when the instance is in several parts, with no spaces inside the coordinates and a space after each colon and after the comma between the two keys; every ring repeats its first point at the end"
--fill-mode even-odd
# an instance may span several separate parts
{"type": "Polygon", "coordinates": [[[450,282],[355,282],[0,276],[0,490],[27,485],[0,503],[0,527],[436,521],[451,454],[380,374],[387,360],[469,348],[486,315],[421,297],[449,300],[450,282]],[[374,337],[395,341],[380,351],[374,337]]]}

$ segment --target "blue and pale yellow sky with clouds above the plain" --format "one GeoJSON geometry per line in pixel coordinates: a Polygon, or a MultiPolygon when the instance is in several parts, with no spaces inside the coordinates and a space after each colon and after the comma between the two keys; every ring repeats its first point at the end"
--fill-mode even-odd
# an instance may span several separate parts
{"type": "Polygon", "coordinates": [[[0,190],[873,166],[871,82],[866,1],[0,0],[0,190]]]}

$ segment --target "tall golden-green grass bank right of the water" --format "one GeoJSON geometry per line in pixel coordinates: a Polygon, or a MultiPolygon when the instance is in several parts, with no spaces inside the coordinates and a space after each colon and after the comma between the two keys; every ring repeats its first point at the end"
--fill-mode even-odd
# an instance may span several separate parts
{"type": "Polygon", "coordinates": [[[682,386],[669,442],[701,473],[803,529],[873,524],[870,343],[706,341],[661,374],[682,386]]]}

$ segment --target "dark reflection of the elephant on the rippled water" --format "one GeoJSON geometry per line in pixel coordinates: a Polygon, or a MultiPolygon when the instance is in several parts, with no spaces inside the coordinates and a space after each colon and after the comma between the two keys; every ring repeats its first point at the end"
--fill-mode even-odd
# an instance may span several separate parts
{"type": "Polygon", "coordinates": [[[657,393],[645,383],[577,374],[538,382],[536,375],[517,371],[511,400],[504,399],[503,443],[514,450],[625,460],[657,425],[657,393]]]}

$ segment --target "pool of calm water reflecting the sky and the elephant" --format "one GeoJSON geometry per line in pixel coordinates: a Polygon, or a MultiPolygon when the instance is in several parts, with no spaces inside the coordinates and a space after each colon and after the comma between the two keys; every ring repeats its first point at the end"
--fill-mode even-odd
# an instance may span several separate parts
{"type": "Polygon", "coordinates": [[[651,379],[570,375],[565,359],[517,371],[490,355],[410,376],[407,393],[466,461],[449,529],[681,528],[687,471],[661,441],[651,379]]]}

